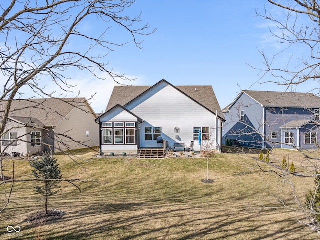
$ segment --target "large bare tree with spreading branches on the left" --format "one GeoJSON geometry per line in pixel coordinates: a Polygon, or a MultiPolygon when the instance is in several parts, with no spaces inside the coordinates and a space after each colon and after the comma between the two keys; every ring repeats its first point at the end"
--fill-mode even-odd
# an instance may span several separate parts
{"type": "MultiPolygon", "coordinates": [[[[109,51],[129,41],[141,48],[142,40],[139,37],[154,31],[148,29],[148,24],[142,21],[140,14],[130,16],[131,13],[127,13],[134,2],[135,0],[0,2],[0,139],[12,129],[8,123],[14,122],[10,114],[15,99],[23,99],[24,93],[31,91],[33,97],[26,100],[35,103],[36,106],[29,107],[47,110],[44,103],[38,104],[33,98],[58,98],[62,101],[61,97],[67,96],[74,87],[69,83],[74,70],[81,70],[83,74],[91,74],[100,80],[133,80],[109,69],[107,56],[109,51]],[[92,29],[87,29],[88,24],[92,29]],[[113,36],[119,32],[126,36],[114,38],[113,36]],[[58,91],[64,93],[57,94],[58,91]]],[[[67,103],[77,106],[76,100],[68,100],[67,103]]],[[[68,131],[57,134],[54,130],[43,127],[32,116],[25,118],[28,119],[22,122],[21,127],[42,129],[47,131],[48,137],[54,134],[54,139],[59,142],[58,148],[65,146],[62,148],[68,149],[69,141],[77,141],[68,136],[68,131]]],[[[2,157],[8,147],[21,140],[21,136],[13,136],[6,140],[5,144],[0,142],[3,183],[5,179],[2,157]]],[[[85,142],[78,143],[86,146],[85,142]]]]}

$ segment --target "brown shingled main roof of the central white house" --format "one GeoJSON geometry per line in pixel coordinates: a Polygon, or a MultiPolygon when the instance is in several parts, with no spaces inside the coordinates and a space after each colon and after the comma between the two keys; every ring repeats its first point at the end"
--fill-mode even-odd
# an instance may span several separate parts
{"type": "MultiPolygon", "coordinates": [[[[169,85],[173,86],[166,80],[161,80],[161,81],[165,81],[169,85]]],[[[114,86],[110,100],[105,109],[105,112],[107,112],[117,104],[121,106],[125,106],[127,103],[129,103],[139,95],[143,94],[145,91],[147,91],[151,87],[153,86],[114,86]]],[[[173,87],[177,88],[183,94],[187,95],[194,101],[203,105],[208,110],[214,113],[218,111],[218,115],[221,118],[223,118],[220,105],[216,99],[212,86],[193,85],[193,86],[173,86],[173,87]]]]}

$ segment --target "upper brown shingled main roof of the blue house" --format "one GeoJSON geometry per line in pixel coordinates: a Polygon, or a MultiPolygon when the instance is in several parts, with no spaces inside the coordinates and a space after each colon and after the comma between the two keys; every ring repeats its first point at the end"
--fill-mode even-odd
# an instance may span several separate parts
{"type": "Polygon", "coordinates": [[[263,106],[320,107],[320,97],[312,93],[249,90],[243,92],[263,106]]]}

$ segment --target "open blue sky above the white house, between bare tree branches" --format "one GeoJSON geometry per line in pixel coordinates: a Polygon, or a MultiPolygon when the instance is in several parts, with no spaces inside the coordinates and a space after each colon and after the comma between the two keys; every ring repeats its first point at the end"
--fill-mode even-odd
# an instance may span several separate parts
{"type": "MultiPolygon", "coordinates": [[[[157,30],[141,37],[142,49],[120,28],[107,31],[106,39],[128,43],[114,47],[106,61],[114,72],[136,78],[123,84],[154,85],[165,79],[173,85],[211,85],[221,108],[231,103],[241,89],[285,90],[274,83],[260,84],[272,79],[260,79],[259,71],[249,66],[263,66],[259,51],[272,56],[283,47],[271,37],[271,22],[256,16],[255,10],[263,13],[264,7],[273,15],[283,14],[267,0],[136,0],[127,9],[128,14],[142,12],[142,20],[157,30]]],[[[107,26],[91,19],[82,27],[94,32],[94,27],[107,26]]],[[[111,80],[94,79],[81,70],[72,72],[68,82],[76,87],[74,94],[64,96],[75,96],[80,91],[81,97],[90,98],[96,93],[89,101],[96,113],[104,111],[116,85],[111,80]]],[[[305,89],[302,86],[297,91],[305,89]]]]}

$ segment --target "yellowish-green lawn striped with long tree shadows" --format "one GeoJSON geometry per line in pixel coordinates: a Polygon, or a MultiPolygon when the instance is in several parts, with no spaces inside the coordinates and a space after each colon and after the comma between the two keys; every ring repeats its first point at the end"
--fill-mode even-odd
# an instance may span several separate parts
{"type": "MultiPolygon", "coordinates": [[[[62,219],[35,225],[28,214],[43,211],[34,182],[15,182],[11,201],[0,213],[1,239],[318,239],[320,235],[297,223],[302,215],[278,208],[284,201],[296,207],[290,184],[271,173],[262,173],[257,154],[216,154],[203,158],[137,159],[96,158],[94,152],[77,152],[78,163],[56,155],[63,178],[93,179],[78,183],[82,192],[67,182],[49,198],[49,209],[65,212],[62,219]],[[267,208],[268,207],[268,208],[267,208]],[[7,226],[20,226],[19,236],[8,235],[7,226]],[[16,237],[16,238],[14,238],[16,237]]],[[[277,150],[273,163],[292,151],[277,150]]],[[[272,159],[273,157],[273,159],[272,159]]],[[[301,159],[294,153],[290,160],[301,159]]],[[[6,162],[11,169],[13,160],[6,162]]],[[[294,162],[295,163],[295,162],[294,162]]],[[[261,163],[264,169],[268,165],[261,163]]],[[[298,161],[296,169],[300,169],[298,161]]],[[[15,178],[31,178],[26,160],[14,160],[15,178]]],[[[7,173],[9,174],[9,172],[7,173]]],[[[293,178],[303,200],[313,188],[311,178],[293,178]]],[[[5,203],[0,186],[1,207],[5,203]]]]}

